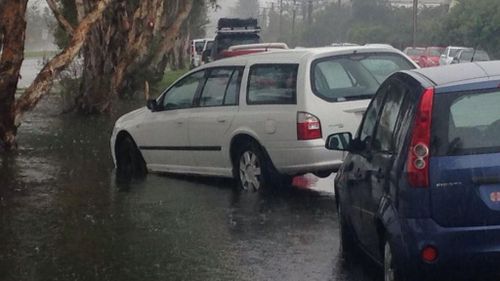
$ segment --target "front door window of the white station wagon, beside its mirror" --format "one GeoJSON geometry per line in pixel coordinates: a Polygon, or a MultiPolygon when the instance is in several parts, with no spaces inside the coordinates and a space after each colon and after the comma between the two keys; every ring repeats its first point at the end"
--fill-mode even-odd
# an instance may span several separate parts
{"type": "Polygon", "coordinates": [[[162,105],[165,110],[190,108],[198,92],[198,87],[204,81],[205,71],[193,73],[177,82],[163,96],[162,105]]]}

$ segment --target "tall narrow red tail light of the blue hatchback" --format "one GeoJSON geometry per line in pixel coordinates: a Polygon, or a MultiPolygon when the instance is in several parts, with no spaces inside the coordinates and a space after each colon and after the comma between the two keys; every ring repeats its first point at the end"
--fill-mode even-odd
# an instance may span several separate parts
{"type": "Polygon", "coordinates": [[[433,101],[434,88],[426,89],[420,99],[408,152],[408,182],[413,187],[429,186],[429,147],[433,101]]]}

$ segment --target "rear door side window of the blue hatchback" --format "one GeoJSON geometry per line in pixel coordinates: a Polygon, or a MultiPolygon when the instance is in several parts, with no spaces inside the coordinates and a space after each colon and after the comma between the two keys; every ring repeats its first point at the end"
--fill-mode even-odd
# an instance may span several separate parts
{"type": "Polygon", "coordinates": [[[390,84],[377,124],[376,135],[373,139],[373,150],[383,152],[394,151],[394,130],[396,129],[403,101],[408,96],[408,91],[408,88],[397,81],[390,84]]]}

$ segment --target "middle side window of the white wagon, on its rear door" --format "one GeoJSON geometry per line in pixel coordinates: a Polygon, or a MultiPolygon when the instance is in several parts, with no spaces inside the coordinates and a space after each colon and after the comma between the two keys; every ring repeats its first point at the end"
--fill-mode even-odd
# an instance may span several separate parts
{"type": "Polygon", "coordinates": [[[200,106],[221,106],[233,74],[233,69],[215,68],[209,71],[200,97],[200,106]]]}

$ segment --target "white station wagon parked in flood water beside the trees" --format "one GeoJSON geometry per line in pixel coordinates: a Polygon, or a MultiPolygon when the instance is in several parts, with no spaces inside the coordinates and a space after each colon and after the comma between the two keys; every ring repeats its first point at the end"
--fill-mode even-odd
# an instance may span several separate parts
{"type": "Polygon", "coordinates": [[[121,117],[111,137],[118,177],[146,172],[234,177],[243,189],[327,176],[342,152],[333,133],[355,133],[392,73],[418,66],[381,47],[275,51],[194,69],[148,106],[121,117]]]}

